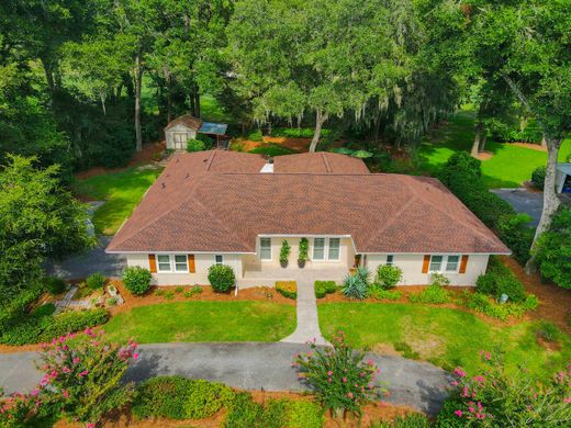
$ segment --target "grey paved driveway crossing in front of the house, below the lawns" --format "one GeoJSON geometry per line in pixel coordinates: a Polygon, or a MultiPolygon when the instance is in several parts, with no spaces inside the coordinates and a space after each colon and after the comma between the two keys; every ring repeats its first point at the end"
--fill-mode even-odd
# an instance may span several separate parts
{"type": "MultiPolygon", "coordinates": [[[[163,343],[141,346],[141,358],[127,380],[156,375],[182,375],[226,383],[234,387],[266,391],[304,391],[293,356],[307,350],[296,343],[163,343]]],[[[40,380],[35,352],[0,354],[0,385],[8,393],[30,390],[40,380]]],[[[445,399],[449,374],[432,364],[401,357],[368,354],[381,369],[391,396],[387,402],[436,414],[445,399]]]]}

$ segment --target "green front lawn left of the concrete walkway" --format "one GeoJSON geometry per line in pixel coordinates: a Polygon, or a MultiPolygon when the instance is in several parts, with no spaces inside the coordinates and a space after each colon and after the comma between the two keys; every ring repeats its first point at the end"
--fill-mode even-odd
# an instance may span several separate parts
{"type": "Polygon", "coordinates": [[[112,340],[277,341],[295,329],[295,307],[271,302],[175,302],[135,307],[103,326],[112,340]]]}

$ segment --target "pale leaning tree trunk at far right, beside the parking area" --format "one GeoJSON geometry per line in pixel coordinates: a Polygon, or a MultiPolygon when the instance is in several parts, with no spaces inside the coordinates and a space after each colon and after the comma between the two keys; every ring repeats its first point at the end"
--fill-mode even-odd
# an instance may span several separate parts
{"type": "Polygon", "coordinates": [[[530,273],[535,270],[535,256],[534,249],[537,244],[537,238],[549,229],[549,225],[551,224],[551,219],[553,218],[557,209],[561,201],[557,196],[556,192],[556,170],[557,170],[557,158],[559,155],[559,147],[561,147],[561,139],[555,139],[550,137],[546,137],[547,143],[547,170],[546,170],[546,180],[544,184],[544,210],[541,212],[541,218],[539,219],[539,224],[537,225],[537,229],[534,236],[534,241],[531,243],[531,258],[527,261],[525,266],[525,270],[527,273],[530,273]]]}

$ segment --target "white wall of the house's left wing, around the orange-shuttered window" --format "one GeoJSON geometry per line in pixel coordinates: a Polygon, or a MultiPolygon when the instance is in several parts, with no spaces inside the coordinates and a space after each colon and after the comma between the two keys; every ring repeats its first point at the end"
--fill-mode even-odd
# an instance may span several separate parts
{"type": "MultiPolygon", "coordinates": [[[[179,254],[179,252],[178,252],[179,254]]],[[[223,263],[234,269],[236,278],[242,278],[242,255],[222,254],[223,263]]],[[[127,254],[127,266],[139,266],[149,269],[148,255],[127,254]]],[[[157,272],[153,273],[153,284],[155,285],[208,285],[209,268],[215,263],[214,255],[195,254],[194,266],[195,273],[178,273],[178,272],[157,272]]],[[[158,263],[157,263],[158,266],[158,263]]]]}

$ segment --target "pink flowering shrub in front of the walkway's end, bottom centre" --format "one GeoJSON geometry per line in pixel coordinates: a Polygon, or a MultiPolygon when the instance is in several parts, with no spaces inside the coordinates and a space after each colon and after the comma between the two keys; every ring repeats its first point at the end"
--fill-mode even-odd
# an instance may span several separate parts
{"type": "Polygon", "coordinates": [[[360,414],[363,404],[384,393],[378,382],[380,370],[372,360],[365,362],[363,353],[349,348],[342,331],[332,345],[333,348],[318,348],[311,342],[311,350],[299,353],[293,367],[325,408],[336,415],[347,410],[360,414]]]}

